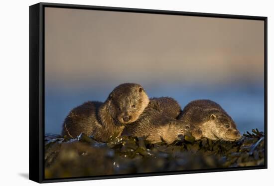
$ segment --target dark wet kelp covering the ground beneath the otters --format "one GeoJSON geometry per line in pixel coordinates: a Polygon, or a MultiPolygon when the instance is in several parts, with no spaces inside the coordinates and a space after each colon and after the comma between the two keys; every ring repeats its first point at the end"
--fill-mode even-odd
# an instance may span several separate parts
{"type": "Polygon", "coordinates": [[[146,137],[113,135],[107,142],[92,136],[45,135],[45,178],[153,173],[263,166],[265,134],[247,132],[236,142],[179,136],[172,144],[151,144],[146,137]]]}

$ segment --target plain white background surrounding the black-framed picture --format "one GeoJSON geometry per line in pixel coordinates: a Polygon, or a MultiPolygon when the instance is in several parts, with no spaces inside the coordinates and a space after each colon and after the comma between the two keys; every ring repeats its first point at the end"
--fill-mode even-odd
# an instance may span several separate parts
{"type": "MultiPolygon", "coordinates": [[[[0,185],[34,185],[28,178],[28,6],[37,0],[5,0],[0,6],[0,185]]],[[[265,185],[273,181],[274,11],[272,0],[47,0],[47,2],[268,16],[269,169],[144,177],[55,185],[265,185]],[[259,178],[259,179],[258,179],[259,178]]]]}

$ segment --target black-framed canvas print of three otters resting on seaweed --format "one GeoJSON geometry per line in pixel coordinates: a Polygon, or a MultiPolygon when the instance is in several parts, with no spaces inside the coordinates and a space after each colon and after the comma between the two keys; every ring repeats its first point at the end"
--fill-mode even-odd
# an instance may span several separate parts
{"type": "Polygon", "coordinates": [[[29,6],[29,179],[267,168],[267,17],[29,6]]]}

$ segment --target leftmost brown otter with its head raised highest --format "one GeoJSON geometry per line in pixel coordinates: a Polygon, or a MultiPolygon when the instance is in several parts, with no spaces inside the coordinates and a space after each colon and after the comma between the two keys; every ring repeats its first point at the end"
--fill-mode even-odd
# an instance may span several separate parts
{"type": "Polygon", "coordinates": [[[114,134],[120,135],[125,124],[136,121],[148,103],[141,85],[121,84],[104,103],[89,101],[72,109],[63,123],[62,135],[75,138],[85,133],[107,141],[114,134]]]}

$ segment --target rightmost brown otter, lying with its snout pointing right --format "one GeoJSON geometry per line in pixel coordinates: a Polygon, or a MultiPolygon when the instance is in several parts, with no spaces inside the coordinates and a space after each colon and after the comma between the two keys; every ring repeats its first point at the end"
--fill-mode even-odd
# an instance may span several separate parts
{"type": "Polygon", "coordinates": [[[195,126],[211,140],[236,141],[241,138],[235,122],[227,112],[211,100],[194,100],[187,104],[178,119],[195,126]]]}

